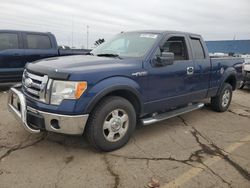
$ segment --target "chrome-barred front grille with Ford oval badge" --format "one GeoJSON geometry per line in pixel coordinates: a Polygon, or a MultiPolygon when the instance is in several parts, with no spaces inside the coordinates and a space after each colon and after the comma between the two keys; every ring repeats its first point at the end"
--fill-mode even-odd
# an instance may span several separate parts
{"type": "Polygon", "coordinates": [[[46,87],[48,80],[47,75],[40,76],[25,70],[22,79],[23,90],[28,96],[46,102],[46,87]]]}

